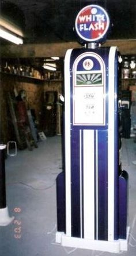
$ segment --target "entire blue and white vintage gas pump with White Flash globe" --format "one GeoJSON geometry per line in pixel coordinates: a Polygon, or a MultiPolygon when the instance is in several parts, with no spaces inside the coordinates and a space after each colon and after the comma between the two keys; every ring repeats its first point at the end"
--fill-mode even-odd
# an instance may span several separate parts
{"type": "Polygon", "coordinates": [[[88,5],[75,20],[85,48],[65,56],[65,171],[57,178],[56,242],[127,250],[127,172],[119,171],[118,49],[101,48],[109,17],[88,5]]]}

